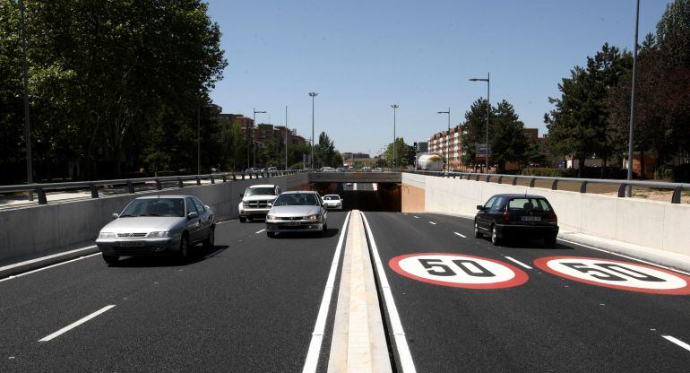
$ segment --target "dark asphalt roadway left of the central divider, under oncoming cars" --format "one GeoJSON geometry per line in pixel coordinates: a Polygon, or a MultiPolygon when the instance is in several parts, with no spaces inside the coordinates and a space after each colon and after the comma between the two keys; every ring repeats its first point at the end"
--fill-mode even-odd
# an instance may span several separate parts
{"type": "Polygon", "coordinates": [[[0,282],[0,371],[301,370],[345,214],[325,238],[228,221],[190,264],[91,256],[0,282]]]}

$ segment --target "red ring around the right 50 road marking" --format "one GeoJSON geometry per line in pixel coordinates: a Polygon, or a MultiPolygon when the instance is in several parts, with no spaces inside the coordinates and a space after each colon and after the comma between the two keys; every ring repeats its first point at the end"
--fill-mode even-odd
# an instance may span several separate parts
{"type": "MultiPolygon", "coordinates": [[[[546,256],[546,257],[541,257],[541,258],[535,260],[534,265],[538,266],[539,268],[541,268],[542,270],[544,270],[548,273],[554,274],[554,275],[559,276],[559,277],[564,277],[566,279],[573,280],[575,282],[584,282],[584,283],[588,283],[590,285],[602,286],[605,288],[611,288],[611,289],[617,289],[617,290],[623,290],[623,291],[645,292],[645,293],[652,293],[652,294],[690,295],[690,276],[686,276],[685,274],[681,274],[681,273],[674,273],[674,272],[671,272],[671,271],[668,271],[668,270],[665,270],[662,268],[654,267],[651,265],[640,265],[637,263],[622,262],[619,260],[601,259],[598,257],[584,257],[584,256],[546,256]],[[665,274],[664,277],[667,277],[667,278],[668,278],[668,276],[675,277],[676,279],[673,279],[673,280],[675,280],[681,284],[682,284],[682,282],[685,282],[685,286],[680,286],[680,287],[671,288],[671,289],[654,289],[654,288],[644,288],[644,287],[639,287],[639,286],[617,285],[617,284],[610,283],[610,282],[604,282],[603,280],[602,281],[598,281],[596,279],[588,280],[586,278],[576,277],[576,276],[571,275],[571,274],[560,272],[560,271],[558,271],[558,270],[556,270],[556,269],[554,269],[548,265],[549,262],[556,261],[555,263],[558,263],[558,261],[561,261],[564,259],[565,260],[573,260],[574,263],[577,263],[576,261],[578,261],[578,260],[581,261],[580,263],[582,263],[582,261],[587,261],[587,262],[595,261],[595,262],[601,262],[601,263],[625,265],[625,267],[631,267],[633,270],[634,269],[638,269],[638,270],[639,269],[642,269],[642,270],[647,269],[647,270],[651,270],[651,273],[648,273],[649,271],[645,272],[647,274],[654,274],[655,272],[657,274],[664,273],[665,274]]],[[[618,275],[619,273],[614,273],[614,274],[618,275]]],[[[587,276],[587,274],[582,273],[582,276],[583,277],[587,276]]],[[[588,276],[588,277],[592,278],[591,276],[588,276]]]]}

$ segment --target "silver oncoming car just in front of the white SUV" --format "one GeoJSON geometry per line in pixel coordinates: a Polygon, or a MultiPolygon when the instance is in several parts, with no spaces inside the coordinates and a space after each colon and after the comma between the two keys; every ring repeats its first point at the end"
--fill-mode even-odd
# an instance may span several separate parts
{"type": "Polygon", "coordinates": [[[313,191],[283,192],[266,215],[266,234],[328,231],[328,212],[318,193],[313,191]]]}

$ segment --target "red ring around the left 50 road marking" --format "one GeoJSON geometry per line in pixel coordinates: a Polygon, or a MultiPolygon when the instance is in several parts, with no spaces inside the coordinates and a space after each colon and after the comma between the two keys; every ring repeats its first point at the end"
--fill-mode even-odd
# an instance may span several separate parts
{"type": "MultiPolygon", "coordinates": [[[[452,260],[452,259],[451,259],[452,260]]],[[[498,260],[494,259],[489,259],[487,257],[482,257],[482,256],[468,256],[464,254],[447,254],[447,253],[416,253],[416,254],[407,254],[404,256],[395,256],[393,257],[390,261],[388,261],[388,265],[391,267],[391,269],[398,274],[401,274],[402,276],[408,277],[413,280],[417,280],[420,282],[427,282],[427,283],[432,283],[435,285],[441,285],[441,286],[450,286],[453,288],[464,288],[464,289],[503,289],[503,288],[512,288],[513,286],[519,286],[522,285],[523,283],[527,282],[529,280],[529,276],[527,273],[522,271],[520,268],[517,268],[513,265],[509,265],[504,262],[500,262],[498,260]],[[491,262],[493,265],[500,265],[503,267],[504,271],[508,270],[513,273],[513,276],[505,281],[500,281],[500,282],[484,282],[484,283],[476,283],[476,282],[447,282],[447,281],[442,281],[442,280],[435,280],[435,279],[429,279],[426,277],[421,277],[418,276],[414,273],[410,273],[403,268],[401,268],[401,261],[413,256],[419,256],[419,257],[424,257],[424,256],[450,256],[450,257],[455,257],[457,259],[476,259],[479,261],[487,261],[491,262]]],[[[456,268],[457,269],[457,268],[456,268]]],[[[438,276],[436,276],[438,277],[438,276]]]]}

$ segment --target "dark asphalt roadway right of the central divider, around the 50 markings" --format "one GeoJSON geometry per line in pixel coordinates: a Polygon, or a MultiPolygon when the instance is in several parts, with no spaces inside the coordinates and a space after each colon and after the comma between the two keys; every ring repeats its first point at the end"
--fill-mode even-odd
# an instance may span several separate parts
{"type": "Polygon", "coordinates": [[[690,366],[690,351],[662,337],[690,342],[690,296],[574,282],[533,263],[545,256],[631,260],[562,242],[493,247],[474,238],[471,220],[447,215],[366,216],[419,372],[650,372],[690,366]],[[529,280],[504,289],[463,289],[421,282],[389,265],[396,256],[432,252],[493,259],[522,269],[529,280]]]}

